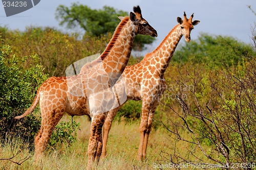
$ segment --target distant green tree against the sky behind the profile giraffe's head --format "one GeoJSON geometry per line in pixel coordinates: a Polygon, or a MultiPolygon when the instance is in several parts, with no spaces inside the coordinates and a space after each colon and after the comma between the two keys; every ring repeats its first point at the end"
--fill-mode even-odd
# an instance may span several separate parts
{"type": "MultiPolygon", "coordinates": [[[[120,22],[117,16],[125,15],[128,13],[113,7],[104,6],[103,9],[96,10],[79,3],[73,3],[70,8],[60,5],[55,13],[61,26],[66,24],[69,29],[79,26],[91,36],[113,33],[120,22]]],[[[142,51],[145,44],[151,44],[154,40],[155,37],[137,35],[134,40],[134,50],[142,51]]]]}

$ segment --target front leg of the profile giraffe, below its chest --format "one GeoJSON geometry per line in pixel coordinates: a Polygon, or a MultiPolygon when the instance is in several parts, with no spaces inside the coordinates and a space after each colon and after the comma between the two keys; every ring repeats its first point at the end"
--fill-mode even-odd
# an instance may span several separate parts
{"type": "Polygon", "coordinates": [[[102,126],[106,113],[100,113],[92,117],[90,139],[88,144],[87,169],[92,169],[93,162],[98,161],[102,152],[102,126]],[[101,145],[101,146],[100,146],[101,145]]]}

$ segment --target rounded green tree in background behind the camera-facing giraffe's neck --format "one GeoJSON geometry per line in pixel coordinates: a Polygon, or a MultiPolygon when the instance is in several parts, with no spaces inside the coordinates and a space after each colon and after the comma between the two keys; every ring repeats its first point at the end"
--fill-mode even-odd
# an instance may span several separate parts
{"type": "Polygon", "coordinates": [[[197,40],[191,40],[176,50],[173,60],[188,61],[196,56],[196,60],[208,64],[220,66],[226,62],[231,66],[236,65],[242,56],[250,57],[251,54],[255,54],[255,52],[249,44],[232,37],[201,34],[197,40]]]}

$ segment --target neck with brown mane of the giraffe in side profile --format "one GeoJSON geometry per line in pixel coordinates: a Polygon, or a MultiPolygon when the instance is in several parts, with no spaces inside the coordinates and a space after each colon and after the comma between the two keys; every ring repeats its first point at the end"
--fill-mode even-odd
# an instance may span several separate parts
{"type": "Polygon", "coordinates": [[[108,74],[109,85],[113,86],[121,76],[130,58],[136,35],[135,29],[130,17],[124,17],[117,26],[104,52],[96,60],[83,65],[80,75],[95,67],[95,65],[102,63],[103,72],[108,74]]]}

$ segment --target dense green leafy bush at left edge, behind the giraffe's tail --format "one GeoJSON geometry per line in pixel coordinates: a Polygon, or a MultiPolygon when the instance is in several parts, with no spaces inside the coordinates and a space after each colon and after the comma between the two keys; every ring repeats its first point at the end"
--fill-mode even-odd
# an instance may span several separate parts
{"type": "MultiPolygon", "coordinates": [[[[2,139],[7,132],[9,120],[23,114],[35,97],[35,91],[46,79],[42,66],[30,64],[37,55],[18,58],[12,54],[11,47],[0,37],[0,133],[2,139]]],[[[22,134],[26,139],[33,139],[40,127],[40,119],[36,114],[24,118],[11,130],[11,134],[22,134]]]]}

